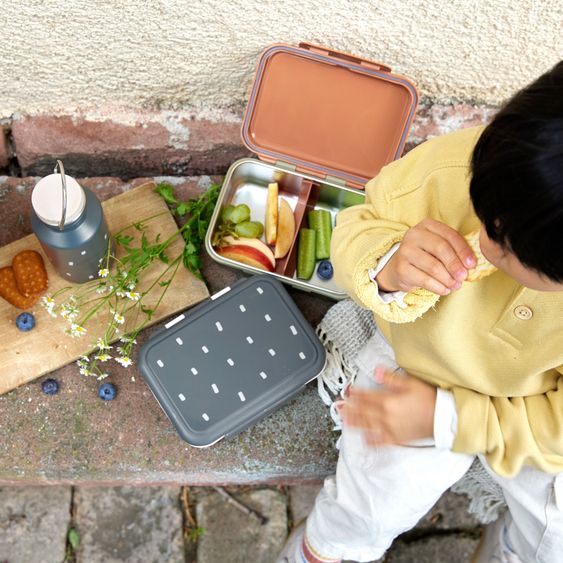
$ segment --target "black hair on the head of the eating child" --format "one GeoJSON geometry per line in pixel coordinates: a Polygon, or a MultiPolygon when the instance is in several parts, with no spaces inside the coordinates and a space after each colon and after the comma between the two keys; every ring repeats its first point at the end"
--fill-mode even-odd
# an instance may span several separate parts
{"type": "Polygon", "coordinates": [[[563,61],[497,113],[471,169],[471,201],[489,238],[563,282],[563,61]]]}

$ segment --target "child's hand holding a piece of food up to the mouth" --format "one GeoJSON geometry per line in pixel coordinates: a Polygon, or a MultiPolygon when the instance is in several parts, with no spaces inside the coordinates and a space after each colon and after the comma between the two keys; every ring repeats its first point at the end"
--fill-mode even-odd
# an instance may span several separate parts
{"type": "Polygon", "coordinates": [[[405,233],[376,281],[383,291],[422,287],[448,295],[461,287],[467,270],[473,266],[473,251],[457,231],[439,221],[424,219],[405,233]]]}

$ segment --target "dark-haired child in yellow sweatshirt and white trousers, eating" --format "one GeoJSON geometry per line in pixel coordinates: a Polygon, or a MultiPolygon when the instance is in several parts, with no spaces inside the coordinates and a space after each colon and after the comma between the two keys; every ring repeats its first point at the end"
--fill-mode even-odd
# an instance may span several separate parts
{"type": "Polygon", "coordinates": [[[475,561],[563,562],[563,62],[486,128],[386,166],[332,259],[379,330],[339,404],[336,475],[280,561],[380,558],[478,456],[508,511],[475,561]],[[468,282],[477,230],[497,269],[468,282]]]}

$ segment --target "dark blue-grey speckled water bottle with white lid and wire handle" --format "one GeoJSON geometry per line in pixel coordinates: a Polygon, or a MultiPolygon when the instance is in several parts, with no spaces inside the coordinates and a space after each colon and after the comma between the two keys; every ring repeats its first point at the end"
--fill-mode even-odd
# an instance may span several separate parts
{"type": "Polygon", "coordinates": [[[33,188],[31,226],[57,273],[84,283],[105,267],[110,233],[98,198],[66,176],[60,160],[54,172],[33,188]]]}

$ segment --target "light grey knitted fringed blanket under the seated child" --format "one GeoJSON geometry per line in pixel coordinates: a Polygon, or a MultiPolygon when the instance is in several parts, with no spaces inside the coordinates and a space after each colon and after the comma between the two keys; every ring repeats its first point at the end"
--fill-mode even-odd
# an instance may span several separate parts
{"type": "MultiPolygon", "coordinates": [[[[327,365],[317,379],[318,392],[323,402],[331,407],[335,430],[341,428],[341,423],[334,400],[354,381],[358,353],[376,330],[372,313],[349,299],[331,307],[317,327],[327,352],[327,365]]],[[[451,490],[469,496],[469,512],[483,524],[496,520],[506,507],[502,489],[490,478],[478,458],[451,490]]]]}

